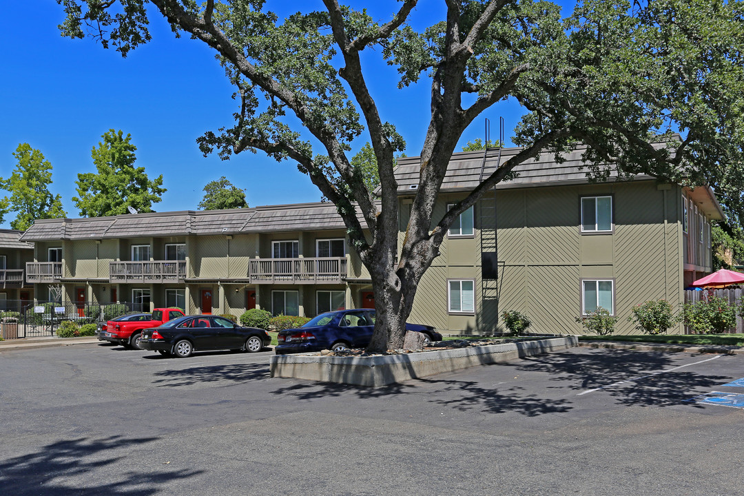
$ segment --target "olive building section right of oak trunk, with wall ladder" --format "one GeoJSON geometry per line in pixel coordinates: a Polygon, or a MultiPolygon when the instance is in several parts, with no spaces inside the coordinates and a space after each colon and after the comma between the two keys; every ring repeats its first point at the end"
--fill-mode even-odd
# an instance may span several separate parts
{"type": "MultiPolygon", "coordinates": [[[[501,161],[517,152],[501,149],[501,161]]],[[[642,175],[592,183],[582,152],[561,164],[551,153],[527,161],[466,211],[423,277],[411,318],[478,333],[519,310],[538,332],[578,333],[575,318],[602,306],[618,317],[616,332],[630,333],[633,306],[664,298],[681,307],[684,288],[711,272],[710,222],[723,219],[713,191],[642,175]]],[[[434,220],[498,161],[498,149],[453,155],[434,220]]],[[[396,168],[402,228],[418,169],[417,158],[396,168]]]]}

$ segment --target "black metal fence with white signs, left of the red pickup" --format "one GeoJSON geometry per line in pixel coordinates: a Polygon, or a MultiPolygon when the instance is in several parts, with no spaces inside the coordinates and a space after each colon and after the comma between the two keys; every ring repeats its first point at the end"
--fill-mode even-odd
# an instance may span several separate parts
{"type": "MultiPolygon", "coordinates": [[[[145,312],[150,311],[147,304],[145,312]]],[[[78,325],[101,323],[129,312],[143,312],[142,303],[58,303],[54,301],[2,300],[0,326],[4,339],[54,336],[63,321],[78,325]]]]}

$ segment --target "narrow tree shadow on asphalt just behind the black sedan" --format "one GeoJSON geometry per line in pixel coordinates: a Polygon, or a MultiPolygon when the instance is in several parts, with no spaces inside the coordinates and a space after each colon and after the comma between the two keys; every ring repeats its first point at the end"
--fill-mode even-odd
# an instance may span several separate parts
{"type": "Polygon", "coordinates": [[[190,367],[180,370],[162,370],[153,373],[153,384],[158,387],[180,387],[217,381],[242,382],[251,379],[268,379],[267,364],[230,364],[190,367]]]}

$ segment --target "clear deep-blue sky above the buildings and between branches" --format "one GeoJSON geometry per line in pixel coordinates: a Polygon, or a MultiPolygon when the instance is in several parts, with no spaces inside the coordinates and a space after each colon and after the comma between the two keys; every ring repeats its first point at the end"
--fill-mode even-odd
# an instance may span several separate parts
{"type": "MultiPolygon", "coordinates": [[[[303,10],[322,8],[320,1],[267,4],[278,13],[297,10],[298,5],[303,10]]],[[[441,18],[443,4],[421,1],[414,22],[441,18]]],[[[375,17],[385,16],[382,20],[388,18],[387,12],[382,7],[371,10],[375,17]]],[[[231,125],[237,109],[214,52],[202,42],[176,39],[159,15],[151,16],[153,40],[122,59],[93,39],[62,38],[57,29],[62,19],[62,7],[54,0],[10,2],[0,16],[1,177],[15,166],[11,154],[16,147],[31,144],[54,167],[50,189],[62,195],[68,216],[77,217],[71,202],[77,173],[94,172],[91,149],[100,135],[122,129],[137,146],[138,166],[145,167],[150,178],[164,176],[167,193],[153,204],[155,210],[196,209],[204,185],[221,175],[246,189],[251,206],[320,199],[320,192],[293,162],[278,163],[262,152],[243,152],[229,161],[202,156],[196,138],[231,125]]],[[[383,120],[394,123],[405,138],[407,155],[419,155],[429,121],[429,82],[398,90],[394,70],[374,63],[378,55],[365,57],[373,97],[383,120]]],[[[522,115],[513,102],[485,112],[464,133],[461,145],[483,138],[485,117],[491,120],[492,138],[497,138],[499,115],[506,121],[508,143],[522,115]]],[[[365,141],[360,139],[354,151],[365,141]]],[[[13,213],[0,227],[7,228],[11,219],[13,213]]]]}

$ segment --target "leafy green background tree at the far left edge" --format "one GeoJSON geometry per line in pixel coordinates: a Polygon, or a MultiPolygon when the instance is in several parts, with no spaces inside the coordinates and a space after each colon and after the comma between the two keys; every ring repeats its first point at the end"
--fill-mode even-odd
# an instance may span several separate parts
{"type": "Polygon", "coordinates": [[[52,167],[42,152],[22,143],[13,157],[18,161],[13,173],[8,178],[0,178],[0,187],[10,193],[10,197],[0,200],[0,213],[3,210],[16,213],[10,227],[25,231],[36,219],[67,216],[62,209],[62,196],[49,192],[52,167]]]}

